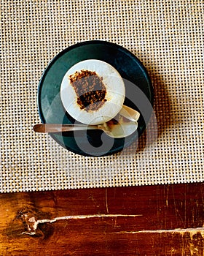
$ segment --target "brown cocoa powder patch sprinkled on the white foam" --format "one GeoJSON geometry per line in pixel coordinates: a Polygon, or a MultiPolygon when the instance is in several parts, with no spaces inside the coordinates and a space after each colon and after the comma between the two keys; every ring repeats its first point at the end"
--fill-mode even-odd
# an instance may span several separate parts
{"type": "Polygon", "coordinates": [[[98,110],[106,102],[106,86],[95,71],[81,70],[69,75],[77,96],[77,104],[87,112],[98,110]]]}

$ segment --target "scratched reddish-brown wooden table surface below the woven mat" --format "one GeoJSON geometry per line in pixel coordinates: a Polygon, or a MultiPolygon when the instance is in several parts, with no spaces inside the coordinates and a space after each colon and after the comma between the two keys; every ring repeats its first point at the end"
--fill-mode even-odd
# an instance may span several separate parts
{"type": "Polygon", "coordinates": [[[204,184],[0,195],[0,255],[203,255],[204,184]]]}

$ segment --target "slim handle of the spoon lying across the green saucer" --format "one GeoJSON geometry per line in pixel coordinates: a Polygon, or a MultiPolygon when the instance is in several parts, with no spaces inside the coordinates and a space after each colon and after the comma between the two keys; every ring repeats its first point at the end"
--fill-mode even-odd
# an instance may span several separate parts
{"type": "Polygon", "coordinates": [[[85,125],[85,124],[35,124],[34,132],[70,132],[82,131],[85,129],[99,129],[98,125],[85,125]]]}

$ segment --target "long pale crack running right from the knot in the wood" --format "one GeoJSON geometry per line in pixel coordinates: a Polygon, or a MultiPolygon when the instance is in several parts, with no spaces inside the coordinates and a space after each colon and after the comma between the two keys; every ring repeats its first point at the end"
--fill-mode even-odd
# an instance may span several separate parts
{"type": "Polygon", "coordinates": [[[34,236],[36,234],[36,230],[39,224],[44,223],[52,223],[57,222],[58,220],[65,220],[65,219],[90,219],[90,218],[105,218],[105,217],[141,217],[141,214],[138,215],[127,215],[127,214],[95,214],[95,215],[74,215],[74,216],[63,216],[63,217],[55,217],[54,219],[39,219],[36,220],[35,217],[28,218],[28,215],[24,215],[26,219],[28,230],[24,231],[22,234],[27,234],[34,236]]]}

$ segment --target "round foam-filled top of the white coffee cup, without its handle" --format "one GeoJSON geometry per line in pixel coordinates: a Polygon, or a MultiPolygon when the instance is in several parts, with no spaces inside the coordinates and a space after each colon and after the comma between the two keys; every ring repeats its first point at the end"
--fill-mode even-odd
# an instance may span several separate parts
{"type": "Polygon", "coordinates": [[[60,97],[67,113],[83,124],[103,124],[122,109],[125,84],[117,69],[105,61],[87,59],[63,77],[60,97]]]}

